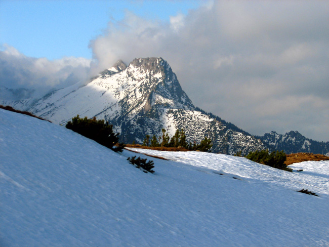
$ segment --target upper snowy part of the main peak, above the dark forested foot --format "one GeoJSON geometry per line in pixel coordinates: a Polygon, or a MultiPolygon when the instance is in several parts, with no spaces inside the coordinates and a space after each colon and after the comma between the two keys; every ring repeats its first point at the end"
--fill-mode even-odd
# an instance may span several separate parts
{"type": "Polygon", "coordinates": [[[76,114],[109,121],[127,115],[133,118],[154,105],[193,109],[171,67],[161,58],[135,59],[128,67],[115,65],[84,87],[62,91],[48,95],[33,106],[33,111],[54,122],[66,123],[76,114]]]}

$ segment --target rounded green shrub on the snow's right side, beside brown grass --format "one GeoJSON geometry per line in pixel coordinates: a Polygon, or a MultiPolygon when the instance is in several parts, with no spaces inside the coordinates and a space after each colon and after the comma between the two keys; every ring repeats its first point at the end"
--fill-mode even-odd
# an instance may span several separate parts
{"type": "Polygon", "coordinates": [[[267,166],[281,169],[284,171],[292,172],[293,170],[288,168],[284,163],[286,155],[283,151],[273,151],[269,153],[268,149],[257,150],[250,152],[245,156],[246,158],[253,160],[257,163],[266,164],[267,166]]]}

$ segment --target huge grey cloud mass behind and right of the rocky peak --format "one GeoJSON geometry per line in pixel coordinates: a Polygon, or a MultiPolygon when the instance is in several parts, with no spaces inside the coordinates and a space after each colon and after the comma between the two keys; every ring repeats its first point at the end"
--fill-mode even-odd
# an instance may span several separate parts
{"type": "Polygon", "coordinates": [[[329,141],[329,4],[215,1],[154,23],[127,13],[91,43],[95,70],[162,57],[195,105],[252,134],[329,141]]]}

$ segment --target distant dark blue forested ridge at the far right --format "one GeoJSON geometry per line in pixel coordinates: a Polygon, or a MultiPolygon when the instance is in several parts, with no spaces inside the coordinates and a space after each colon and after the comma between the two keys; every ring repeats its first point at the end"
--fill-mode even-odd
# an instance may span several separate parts
{"type": "Polygon", "coordinates": [[[298,131],[277,134],[275,131],[259,137],[270,150],[284,150],[286,153],[320,153],[329,156],[329,142],[318,142],[306,138],[298,131]]]}

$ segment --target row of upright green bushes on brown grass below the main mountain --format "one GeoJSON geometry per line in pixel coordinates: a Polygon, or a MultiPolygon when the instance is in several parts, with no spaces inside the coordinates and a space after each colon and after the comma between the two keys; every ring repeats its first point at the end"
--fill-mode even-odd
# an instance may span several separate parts
{"type": "Polygon", "coordinates": [[[199,150],[202,152],[207,152],[212,148],[211,140],[207,137],[199,143],[196,142],[188,143],[186,141],[186,135],[184,130],[176,130],[175,135],[172,138],[169,138],[168,133],[166,133],[165,129],[162,129],[162,135],[158,138],[153,135],[150,139],[149,135],[146,135],[143,145],[150,147],[183,147],[188,150],[199,150]]]}

